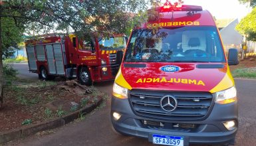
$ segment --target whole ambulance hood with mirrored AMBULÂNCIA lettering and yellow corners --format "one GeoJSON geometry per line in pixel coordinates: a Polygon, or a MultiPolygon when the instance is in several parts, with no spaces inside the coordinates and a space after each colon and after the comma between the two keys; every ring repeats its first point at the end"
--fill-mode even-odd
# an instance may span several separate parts
{"type": "Polygon", "coordinates": [[[221,63],[124,62],[120,73],[132,89],[216,92],[217,86],[224,85],[221,90],[234,86],[227,64],[221,63]]]}

